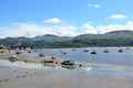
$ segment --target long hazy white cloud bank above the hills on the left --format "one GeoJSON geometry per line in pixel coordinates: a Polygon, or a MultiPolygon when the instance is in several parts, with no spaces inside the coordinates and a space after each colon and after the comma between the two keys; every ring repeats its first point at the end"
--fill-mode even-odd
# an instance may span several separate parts
{"type": "Polygon", "coordinates": [[[0,37],[7,36],[27,36],[33,37],[37,35],[44,35],[44,34],[54,34],[59,36],[75,36],[76,28],[72,25],[60,25],[60,26],[45,26],[39,24],[30,24],[30,23],[13,23],[10,26],[0,28],[2,34],[0,37]]]}

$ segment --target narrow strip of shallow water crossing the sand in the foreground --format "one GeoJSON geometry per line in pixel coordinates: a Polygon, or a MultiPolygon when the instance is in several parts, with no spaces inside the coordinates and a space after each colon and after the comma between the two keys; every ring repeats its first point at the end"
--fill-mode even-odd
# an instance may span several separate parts
{"type": "Polygon", "coordinates": [[[24,63],[24,62],[14,62],[11,63],[9,61],[0,59],[0,66],[8,66],[11,68],[32,68],[32,69],[41,69],[41,70],[54,70],[54,72],[74,72],[74,73],[91,73],[91,74],[103,74],[103,75],[124,75],[124,76],[133,76],[133,72],[131,70],[120,70],[113,68],[94,68],[94,67],[75,67],[72,69],[63,68],[61,66],[43,66],[41,64],[33,63],[24,63]]]}

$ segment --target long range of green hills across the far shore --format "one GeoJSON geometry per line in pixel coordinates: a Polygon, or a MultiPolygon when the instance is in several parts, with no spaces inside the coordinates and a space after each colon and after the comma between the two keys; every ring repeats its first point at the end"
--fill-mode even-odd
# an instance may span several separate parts
{"type": "Polygon", "coordinates": [[[33,47],[133,46],[133,31],[113,31],[105,34],[82,34],[74,37],[45,34],[35,37],[7,37],[0,44],[33,47]]]}

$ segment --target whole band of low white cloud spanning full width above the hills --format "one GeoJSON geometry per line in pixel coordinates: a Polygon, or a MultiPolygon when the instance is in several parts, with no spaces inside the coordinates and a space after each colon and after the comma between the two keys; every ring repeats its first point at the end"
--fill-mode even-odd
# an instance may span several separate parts
{"type": "Polygon", "coordinates": [[[79,34],[104,34],[111,31],[131,30],[133,31],[133,21],[125,24],[109,24],[93,26],[91,23],[85,23],[82,28],[72,25],[39,25],[33,23],[13,23],[9,26],[0,26],[0,38],[7,36],[27,36],[33,37],[37,35],[54,34],[59,36],[75,36],[79,34]],[[78,30],[79,29],[79,30],[78,30]],[[82,30],[82,31],[80,31],[82,30]]]}

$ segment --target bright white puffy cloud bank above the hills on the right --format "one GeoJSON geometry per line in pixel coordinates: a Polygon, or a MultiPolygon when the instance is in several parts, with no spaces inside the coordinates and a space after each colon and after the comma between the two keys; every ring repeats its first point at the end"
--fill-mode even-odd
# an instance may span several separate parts
{"type": "Polygon", "coordinates": [[[111,31],[121,31],[121,30],[131,30],[133,31],[133,21],[130,21],[125,24],[109,24],[109,25],[99,25],[99,26],[92,26],[90,24],[84,24],[83,30],[85,33],[92,33],[92,34],[104,34],[106,32],[111,31]]]}

